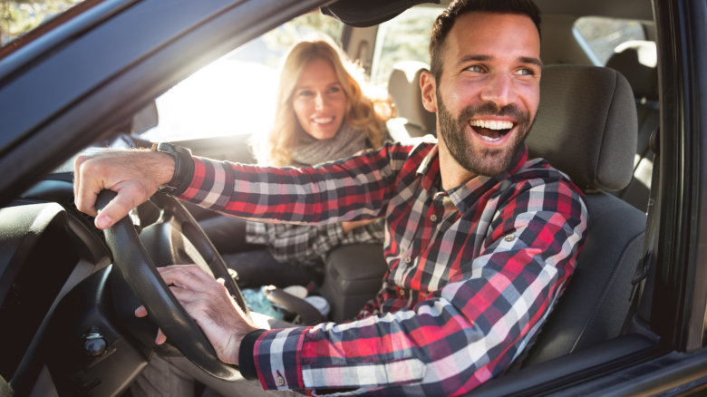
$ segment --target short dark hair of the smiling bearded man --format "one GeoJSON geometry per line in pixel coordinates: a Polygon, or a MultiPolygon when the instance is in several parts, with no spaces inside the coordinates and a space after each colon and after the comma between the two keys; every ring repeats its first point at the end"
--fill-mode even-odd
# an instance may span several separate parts
{"type": "Polygon", "coordinates": [[[540,34],[540,9],[532,0],[454,0],[437,17],[432,25],[430,41],[430,69],[436,82],[440,82],[444,43],[451,27],[461,15],[478,11],[493,14],[528,15],[540,34]]]}

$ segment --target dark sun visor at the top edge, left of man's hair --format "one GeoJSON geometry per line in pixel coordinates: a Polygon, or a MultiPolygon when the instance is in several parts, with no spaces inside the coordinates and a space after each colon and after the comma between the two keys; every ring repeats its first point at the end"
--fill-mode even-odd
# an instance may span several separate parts
{"type": "Polygon", "coordinates": [[[353,27],[382,24],[413,5],[440,4],[440,0],[340,0],[322,7],[322,14],[333,16],[353,27]]]}

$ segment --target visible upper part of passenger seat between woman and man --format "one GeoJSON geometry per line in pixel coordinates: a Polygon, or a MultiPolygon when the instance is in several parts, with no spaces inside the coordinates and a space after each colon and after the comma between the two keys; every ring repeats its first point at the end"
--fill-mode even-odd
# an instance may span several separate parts
{"type": "Polygon", "coordinates": [[[422,106],[420,75],[430,69],[425,63],[403,61],[392,66],[388,93],[398,110],[398,117],[388,121],[393,140],[437,135],[437,115],[422,106]]]}

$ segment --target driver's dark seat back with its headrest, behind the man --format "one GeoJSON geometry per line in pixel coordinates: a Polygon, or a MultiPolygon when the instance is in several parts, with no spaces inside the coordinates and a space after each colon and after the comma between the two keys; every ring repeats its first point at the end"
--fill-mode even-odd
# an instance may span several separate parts
{"type": "Polygon", "coordinates": [[[615,70],[580,65],[543,69],[528,151],[585,191],[588,237],[576,270],[522,367],[618,336],[641,259],[645,214],[603,189],[624,189],[636,146],[634,96],[615,70]]]}

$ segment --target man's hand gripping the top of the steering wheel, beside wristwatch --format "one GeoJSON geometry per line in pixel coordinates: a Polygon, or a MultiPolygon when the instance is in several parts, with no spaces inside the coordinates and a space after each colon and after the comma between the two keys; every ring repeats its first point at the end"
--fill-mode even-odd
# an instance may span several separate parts
{"type": "Polygon", "coordinates": [[[96,217],[96,198],[103,189],[118,193],[96,217],[96,228],[110,228],[144,203],[174,173],[174,158],[152,150],[96,150],[73,162],[76,208],[96,217]]]}

